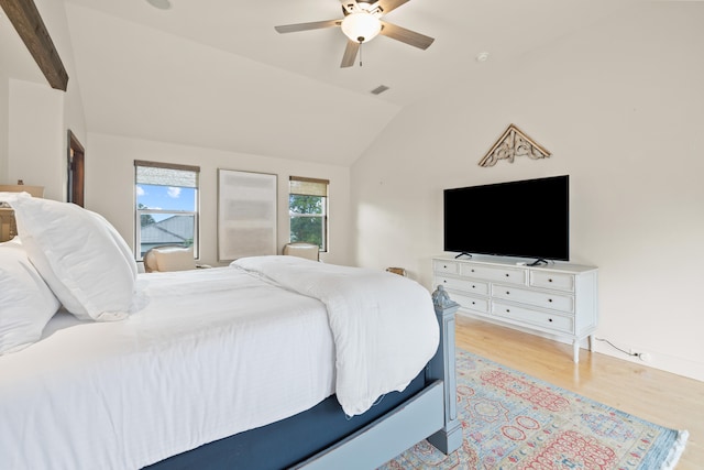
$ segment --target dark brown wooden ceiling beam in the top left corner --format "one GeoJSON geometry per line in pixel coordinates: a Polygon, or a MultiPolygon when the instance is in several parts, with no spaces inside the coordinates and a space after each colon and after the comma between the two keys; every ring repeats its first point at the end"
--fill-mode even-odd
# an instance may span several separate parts
{"type": "Polygon", "coordinates": [[[0,0],[0,7],[52,88],[66,91],[68,74],[33,0],[0,0]]]}

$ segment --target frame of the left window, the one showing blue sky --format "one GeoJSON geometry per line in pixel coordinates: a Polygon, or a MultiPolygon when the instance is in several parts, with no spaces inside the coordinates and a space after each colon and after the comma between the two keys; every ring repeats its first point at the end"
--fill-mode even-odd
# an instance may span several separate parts
{"type": "MultiPolygon", "coordinates": [[[[179,186],[175,186],[179,187],[179,186]]],[[[189,186],[180,186],[180,187],[189,187],[189,186]]],[[[134,258],[136,261],[143,261],[142,254],[142,216],[151,215],[151,214],[161,214],[161,215],[173,215],[173,216],[193,216],[194,217],[194,259],[198,260],[200,258],[200,166],[195,165],[184,165],[184,164],[175,164],[175,163],[164,163],[164,162],[148,162],[143,160],[134,161],[134,188],[133,188],[133,207],[134,207],[134,258]],[[176,170],[182,172],[193,172],[195,173],[195,186],[194,186],[194,196],[195,196],[195,210],[178,210],[178,209],[141,209],[138,205],[138,194],[136,188],[140,185],[144,185],[145,183],[138,182],[138,172],[139,167],[154,167],[162,170],[176,170]]]]}

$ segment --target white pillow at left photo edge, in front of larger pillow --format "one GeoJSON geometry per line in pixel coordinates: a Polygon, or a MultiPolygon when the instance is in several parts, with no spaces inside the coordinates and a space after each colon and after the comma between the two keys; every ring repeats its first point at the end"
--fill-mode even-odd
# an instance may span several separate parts
{"type": "Polygon", "coordinates": [[[0,356],[36,342],[59,306],[16,237],[0,243],[0,356]]]}

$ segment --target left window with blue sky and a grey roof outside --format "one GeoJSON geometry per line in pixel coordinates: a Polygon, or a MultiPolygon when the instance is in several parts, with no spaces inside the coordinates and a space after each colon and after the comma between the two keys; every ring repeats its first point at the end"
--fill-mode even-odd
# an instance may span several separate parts
{"type": "Polygon", "coordinates": [[[198,258],[200,167],[134,161],[135,258],[162,244],[194,247],[198,258]]]}

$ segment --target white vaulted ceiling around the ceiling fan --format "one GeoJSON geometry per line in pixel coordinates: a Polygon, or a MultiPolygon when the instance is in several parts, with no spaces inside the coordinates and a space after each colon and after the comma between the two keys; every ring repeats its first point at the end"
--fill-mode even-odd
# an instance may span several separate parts
{"type": "MultiPolygon", "coordinates": [[[[362,46],[363,66],[340,68],[338,28],[274,30],[342,18],[338,0],[170,0],[168,10],[55,1],[65,4],[70,80],[90,132],[334,165],[352,164],[403,108],[471,87],[477,74],[510,73],[526,54],[634,3],[410,0],[384,19],[435,37],[427,51],[378,36],[362,46]],[[381,85],[389,89],[371,94],[381,85]]],[[[8,47],[18,40],[4,30],[8,47]]]]}

